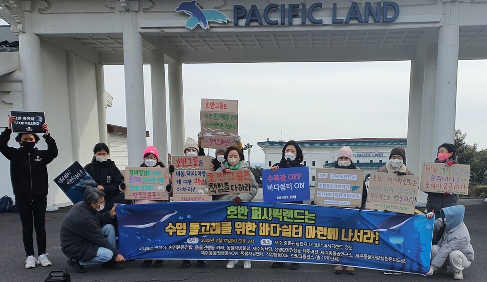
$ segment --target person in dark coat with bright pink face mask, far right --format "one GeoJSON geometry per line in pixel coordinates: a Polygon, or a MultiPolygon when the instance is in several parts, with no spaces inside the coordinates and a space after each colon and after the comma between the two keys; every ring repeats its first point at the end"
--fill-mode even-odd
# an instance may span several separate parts
{"type": "MultiPolygon", "coordinates": [[[[444,163],[446,166],[458,163],[458,160],[456,158],[455,145],[449,143],[441,144],[438,147],[438,155],[435,162],[444,163]]],[[[439,218],[441,216],[439,211],[442,208],[458,205],[458,194],[451,194],[450,192],[426,192],[426,194],[428,194],[426,210],[428,212],[435,211],[436,218],[439,218]]]]}

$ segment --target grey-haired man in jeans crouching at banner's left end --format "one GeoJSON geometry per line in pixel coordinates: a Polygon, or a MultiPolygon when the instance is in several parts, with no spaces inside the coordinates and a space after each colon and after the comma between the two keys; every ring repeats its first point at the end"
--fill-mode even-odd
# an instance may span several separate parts
{"type": "Polygon", "coordinates": [[[74,272],[86,272],[83,265],[102,263],[103,268],[123,269],[125,258],[115,247],[115,229],[110,223],[115,207],[100,213],[105,206],[101,189],[86,189],[83,201],[76,203],[63,220],[60,230],[61,251],[74,272]]]}

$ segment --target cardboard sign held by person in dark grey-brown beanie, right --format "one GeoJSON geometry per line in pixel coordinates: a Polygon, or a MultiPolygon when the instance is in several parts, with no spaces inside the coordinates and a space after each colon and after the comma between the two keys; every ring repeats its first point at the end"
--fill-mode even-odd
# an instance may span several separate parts
{"type": "Polygon", "coordinates": [[[419,176],[373,171],[369,182],[368,209],[414,214],[419,176]]]}

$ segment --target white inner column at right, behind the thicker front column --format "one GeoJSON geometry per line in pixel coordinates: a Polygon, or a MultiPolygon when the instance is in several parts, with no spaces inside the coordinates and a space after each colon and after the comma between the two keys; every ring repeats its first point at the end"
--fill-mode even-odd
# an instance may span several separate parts
{"type": "Polygon", "coordinates": [[[407,167],[416,175],[419,173],[423,77],[424,58],[416,57],[411,60],[411,74],[409,82],[408,145],[406,157],[407,167]]]}

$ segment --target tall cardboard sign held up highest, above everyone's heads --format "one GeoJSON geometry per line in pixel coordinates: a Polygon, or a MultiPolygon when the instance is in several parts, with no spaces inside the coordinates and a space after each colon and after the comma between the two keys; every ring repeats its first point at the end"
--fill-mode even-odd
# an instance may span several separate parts
{"type": "Polygon", "coordinates": [[[201,99],[201,147],[228,148],[238,133],[238,101],[201,99]]]}

